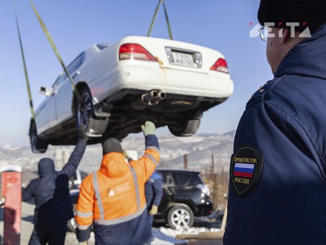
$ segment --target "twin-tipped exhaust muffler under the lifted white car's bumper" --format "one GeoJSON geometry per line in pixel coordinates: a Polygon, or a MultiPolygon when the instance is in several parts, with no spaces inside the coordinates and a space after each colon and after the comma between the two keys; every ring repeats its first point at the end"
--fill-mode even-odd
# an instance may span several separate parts
{"type": "Polygon", "coordinates": [[[157,105],[160,101],[165,100],[166,97],[166,93],[154,89],[142,94],[141,100],[132,100],[130,102],[130,107],[134,110],[141,111],[150,106],[157,105]]]}

